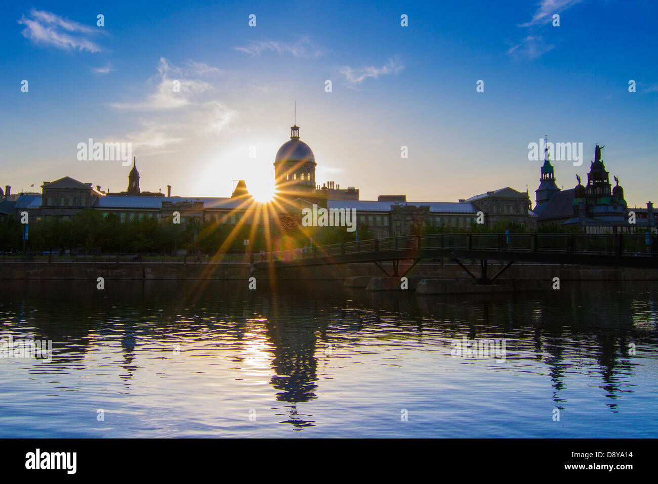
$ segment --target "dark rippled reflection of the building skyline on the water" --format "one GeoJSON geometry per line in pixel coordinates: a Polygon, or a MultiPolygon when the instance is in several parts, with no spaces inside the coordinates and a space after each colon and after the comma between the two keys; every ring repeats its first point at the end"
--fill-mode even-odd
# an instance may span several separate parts
{"type": "Polygon", "coordinates": [[[315,425],[309,409],[321,396],[317,352],[327,343],[359,351],[373,333],[386,344],[389,332],[395,331],[423,345],[447,346],[449,354],[449,341],[464,335],[505,338],[515,355],[511,359],[545,366],[557,408],[569,406],[565,395],[577,374],[598,379],[613,412],[633,389],[638,362],[629,354],[630,345],[656,347],[658,297],[651,287],[638,291],[637,297],[614,291],[601,296],[585,286],[563,290],[559,297],[551,292],[419,297],[315,283],[261,293],[247,291],[246,284],[237,289],[234,283],[214,281],[201,293],[193,284],[176,281],[121,283],[116,289],[109,285],[102,294],[86,288],[72,292],[72,285],[3,287],[0,334],[54,342],[53,364],[34,366],[34,374],[87,368],[99,345],[105,345],[113,351],[120,348],[112,364],[120,368],[118,377],[128,391],[141,369],[141,341],[176,335],[182,346],[216,349],[230,341],[241,349],[232,352],[240,368],[257,364],[268,370],[266,381],[281,404],[282,422],[298,430],[315,425]],[[649,323],[636,324],[640,313],[649,323]]]}

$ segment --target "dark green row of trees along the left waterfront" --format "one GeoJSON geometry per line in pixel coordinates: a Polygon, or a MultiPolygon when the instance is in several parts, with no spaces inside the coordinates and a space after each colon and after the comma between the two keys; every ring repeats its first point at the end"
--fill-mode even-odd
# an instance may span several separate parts
{"type": "MultiPolygon", "coordinates": [[[[284,220],[286,222],[286,220],[284,220]]],[[[78,212],[68,220],[48,218],[30,224],[26,250],[70,253],[152,253],[173,254],[180,249],[203,254],[240,253],[245,251],[278,251],[355,240],[355,232],[345,228],[301,228],[297,223],[284,223],[281,230],[247,224],[220,224],[188,218],[185,223],[163,223],[153,217],[121,222],[117,214],[103,216],[97,210],[78,212]],[[195,236],[196,232],[196,236],[195,236]],[[243,241],[249,240],[245,247],[243,241]]],[[[0,251],[22,251],[23,226],[14,217],[0,220],[0,251]]],[[[374,235],[365,226],[359,228],[359,239],[374,235]]]]}

